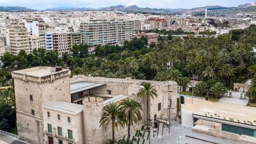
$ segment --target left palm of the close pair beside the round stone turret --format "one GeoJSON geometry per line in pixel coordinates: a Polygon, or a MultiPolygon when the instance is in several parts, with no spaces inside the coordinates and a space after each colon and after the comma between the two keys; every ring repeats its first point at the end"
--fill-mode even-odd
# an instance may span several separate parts
{"type": "Polygon", "coordinates": [[[115,126],[120,125],[123,127],[123,117],[124,113],[121,109],[121,105],[117,103],[109,103],[103,107],[103,115],[100,119],[100,126],[105,125],[105,129],[109,125],[109,122],[112,124],[112,142],[115,141],[115,126]]]}

